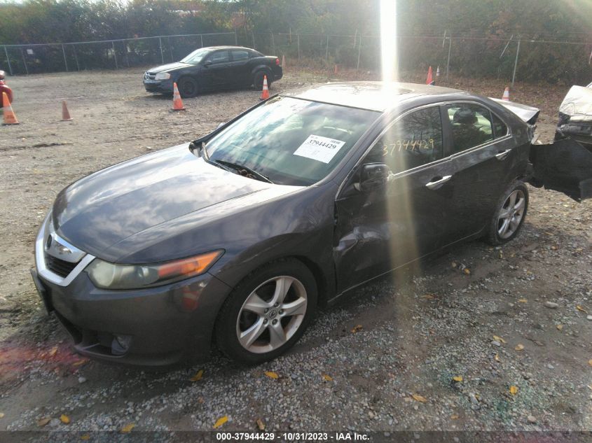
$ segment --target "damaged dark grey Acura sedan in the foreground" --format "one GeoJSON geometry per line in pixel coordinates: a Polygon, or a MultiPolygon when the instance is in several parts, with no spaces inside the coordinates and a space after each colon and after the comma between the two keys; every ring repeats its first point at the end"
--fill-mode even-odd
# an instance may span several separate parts
{"type": "Polygon", "coordinates": [[[532,134],[504,105],[442,87],[276,95],[62,190],[34,281],[85,356],[165,365],[214,342],[260,363],[363,283],[461,241],[516,237],[531,157],[537,184],[592,197],[592,154],[532,134]]]}

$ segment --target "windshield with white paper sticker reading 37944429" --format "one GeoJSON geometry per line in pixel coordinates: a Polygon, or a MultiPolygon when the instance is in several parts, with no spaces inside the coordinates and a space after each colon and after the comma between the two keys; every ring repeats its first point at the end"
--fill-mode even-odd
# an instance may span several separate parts
{"type": "Polygon", "coordinates": [[[380,113],[275,97],[210,140],[209,160],[241,164],[281,185],[331,172],[380,113]]]}

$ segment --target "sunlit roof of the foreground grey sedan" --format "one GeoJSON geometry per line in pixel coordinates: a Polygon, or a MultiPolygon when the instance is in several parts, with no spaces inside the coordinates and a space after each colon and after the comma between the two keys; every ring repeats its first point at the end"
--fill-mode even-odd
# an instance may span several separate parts
{"type": "Polygon", "coordinates": [[[394,108],[402,101],[415,97],[449,94],[469,95],[466,91],[450,87],[378,81],[324,83],[282,93],[284,96],[298,99],[322,101],[329,104],[380,112],[387,111],[387,109],[394,108]]]}

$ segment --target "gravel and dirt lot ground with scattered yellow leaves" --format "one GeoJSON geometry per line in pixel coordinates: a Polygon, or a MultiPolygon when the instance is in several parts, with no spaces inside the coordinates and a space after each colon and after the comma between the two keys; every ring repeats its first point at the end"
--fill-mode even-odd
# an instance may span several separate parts
{"type": "MultiPolygon", "coordinates": [[[[288,72],[273,91],[326,80],[288,72]]],[[[221,430],[254,431],[257,419],[268,430],[592,430],[592,202],[534,188],[524,229],[507,246],[475,241],[357,290],[261,367],[214,353],[206,365],[154,374],[74,355],[29,276],[36,230],[57,192],[195,139],[259,93],[207,94],[173,113],[169,98],[144,92],[137,71],[8,83],[21,124],[0,127],[1,430],[212,430],[223,416],[221,430]],[[60,122],[63,98],[72,122],[60,122]],[[190,381],[198,370],[202,379],[190,381]]],[[[451,85],[495,97],[504,89],[451,85]]],[[[549,140],[567,89],[516,85],[512,99],[542,108],[549,140]]]]}

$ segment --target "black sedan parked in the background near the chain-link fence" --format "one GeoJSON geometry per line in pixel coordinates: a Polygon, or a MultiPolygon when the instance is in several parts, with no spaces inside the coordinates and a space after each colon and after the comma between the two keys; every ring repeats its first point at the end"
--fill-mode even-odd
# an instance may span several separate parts
{"type": "Polygon", "coordinates": [[[194,97],[200,92],[268,86],[282,78],[280,59],[263,55],[241,46],[211,46],[191,52],[177,63],[163,64],[144,73],[148,92],[172,92],[177,83],[181,97],[194,97]]]}

